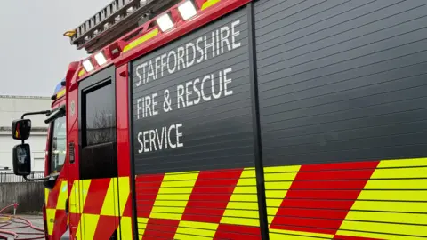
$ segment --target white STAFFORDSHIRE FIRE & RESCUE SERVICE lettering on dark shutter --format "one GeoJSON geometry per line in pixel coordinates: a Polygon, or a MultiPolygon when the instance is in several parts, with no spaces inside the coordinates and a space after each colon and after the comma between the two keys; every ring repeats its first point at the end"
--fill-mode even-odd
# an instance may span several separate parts
{"type": "MultiPolygon", "coordinates": [[[[137,77],[135,86],[143,87],[144,84],[156,81],[167,74],[171,75],[239,48],[242,45],[237,39],[240,35],[239,24],[240,20],[235,20],[139,64],[135,68],[137,77]]],[[[173,89],[169,87],[161,92],[153,91],[154,93],[145,94],[136,99],[133,111],[136,120],[228,97],[233,94],[232,72],[233,68],[230,67],[189,81],[173,80],[178,81],[178,84],[173,84],[173,89]]],[[[149,86],[143,91],[149,91],[150,88],[154,86],[149,86]]],[[[184,130],[183,123],[141,130],[136,134],[138,153],[182,148],[184,147],[184,130]]]]}

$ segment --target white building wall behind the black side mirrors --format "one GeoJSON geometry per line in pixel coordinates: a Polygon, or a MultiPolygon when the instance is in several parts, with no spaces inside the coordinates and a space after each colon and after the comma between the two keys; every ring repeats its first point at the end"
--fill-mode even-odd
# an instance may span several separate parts
{"type": "MultiPolygon", "coordinates": [[[[12,139],[12,121],[19,119],[25,112],[48,110],[51,108],[51,104],[52,100],[48,97],[0,95],[0,169],[9,167],[12,170],[12,148],[16,144],[20,144],[19,140],[12,139]]],[[[31,169],[43,171],[47,135],[47,124],[44,124],[45,116],[26,116],[26,118],[31,119],[33,128],[29,139],[26,140],[31,148],[31,169]]]]}

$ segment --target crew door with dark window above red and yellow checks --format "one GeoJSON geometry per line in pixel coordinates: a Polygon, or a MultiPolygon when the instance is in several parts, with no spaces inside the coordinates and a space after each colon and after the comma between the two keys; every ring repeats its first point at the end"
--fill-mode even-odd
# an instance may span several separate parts
{"type": "Polygon", "coordinates": [[[79,239],[117,239],[117,131],[114,66],[78,86],[79,239]]]}

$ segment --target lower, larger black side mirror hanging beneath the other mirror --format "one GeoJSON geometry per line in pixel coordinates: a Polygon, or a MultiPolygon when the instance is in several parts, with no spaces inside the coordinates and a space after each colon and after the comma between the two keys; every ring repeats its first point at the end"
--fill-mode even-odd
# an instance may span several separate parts
{"type": "Polygon", "coordinates": [[[31,152],[28,143],[13,147],[13,172],[18,176],[31,173],[31,152]]]}

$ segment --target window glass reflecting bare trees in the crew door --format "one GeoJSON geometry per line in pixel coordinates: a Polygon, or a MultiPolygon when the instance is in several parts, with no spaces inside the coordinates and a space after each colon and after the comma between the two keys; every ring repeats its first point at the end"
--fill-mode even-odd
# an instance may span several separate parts
{"type": "Polygon", "coordinates": [[[85,92],[85,147],[116,141],[111,81],[85,92]]]}

